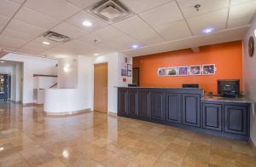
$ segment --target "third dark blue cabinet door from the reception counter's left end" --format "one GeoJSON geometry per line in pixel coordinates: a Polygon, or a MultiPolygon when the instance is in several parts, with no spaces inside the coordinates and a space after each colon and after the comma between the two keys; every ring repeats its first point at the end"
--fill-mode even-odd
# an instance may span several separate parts
{"type": "Polygon", "coordinates": [[[138,116],[139,118],[150,118],[149,91],[146,89],[138,91],[138,116]]]}

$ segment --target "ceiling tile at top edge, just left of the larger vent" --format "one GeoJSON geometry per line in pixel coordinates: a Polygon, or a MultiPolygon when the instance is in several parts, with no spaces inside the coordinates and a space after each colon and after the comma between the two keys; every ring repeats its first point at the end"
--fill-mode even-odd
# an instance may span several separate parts
{"type": "Polygon", "coordinates": [[[57,20],[66,20],[80,10],[65,0],[27,0],[25,6],[43,14],[48,14],[57,20]]]}

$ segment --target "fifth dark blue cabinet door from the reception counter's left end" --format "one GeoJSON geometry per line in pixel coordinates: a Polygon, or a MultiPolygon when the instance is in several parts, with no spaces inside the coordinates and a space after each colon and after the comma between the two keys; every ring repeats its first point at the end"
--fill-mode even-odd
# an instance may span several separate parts
{"type": "Polygon", "coordinates": [[[180,95],[166,93],[166,122],[181,123],[180,95]]]}

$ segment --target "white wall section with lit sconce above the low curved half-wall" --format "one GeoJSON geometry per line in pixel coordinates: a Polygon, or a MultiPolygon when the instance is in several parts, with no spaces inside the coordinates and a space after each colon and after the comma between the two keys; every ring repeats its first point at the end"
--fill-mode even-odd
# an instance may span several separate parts
{"type": "Polygon", "coordinates": [[[78,87],[78,58],[63,58],[58,61],[58,88],[78,87]],[[65,68],[67,71],[65,71],[65,68]]]}

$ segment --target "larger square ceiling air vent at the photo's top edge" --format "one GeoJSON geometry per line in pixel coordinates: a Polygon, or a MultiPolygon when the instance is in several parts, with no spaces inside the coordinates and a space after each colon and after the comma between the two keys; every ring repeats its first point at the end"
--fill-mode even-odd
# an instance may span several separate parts
{"type": "Polygon", "coordinates": [[[90,7],[87,11],[91,14],[95,14],[102,20],[108,21],[108,23],[124,20],[131,16],[131,11],[118,0],[103,0],[90,7]]]}

